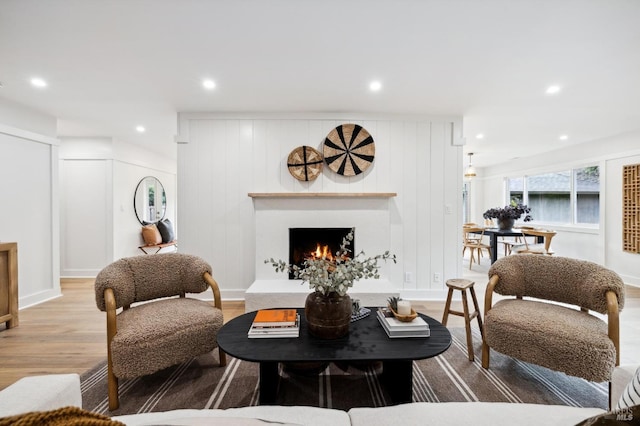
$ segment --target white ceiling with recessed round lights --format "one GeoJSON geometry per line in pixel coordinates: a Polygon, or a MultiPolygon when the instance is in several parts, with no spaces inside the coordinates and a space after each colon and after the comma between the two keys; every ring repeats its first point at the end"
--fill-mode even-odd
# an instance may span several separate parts
{"type": "Polygon", "coordinates": [[[639,129],[639,22],[637,0],[0,0],[0,98],[170,158],[182,111],[462,116],[485,167],[639,129]]]}

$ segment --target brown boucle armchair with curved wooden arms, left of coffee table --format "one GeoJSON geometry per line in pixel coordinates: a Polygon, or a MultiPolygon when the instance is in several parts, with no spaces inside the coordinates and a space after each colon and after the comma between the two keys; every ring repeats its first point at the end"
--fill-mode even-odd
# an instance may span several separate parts
{"type": "MultiPolygon", "coordinates": [[[[95,292],[98,309],[107,313],[110,410],[119,406],[119,378],[151,374],[218,346],[220,290],[211,266],[199,257],[167,253],[117,260],[100,271],[95,292]],[[186,297],[208,288],[213,305],[186,297]]],[[[218,350],[224,366],[225,353],[218,350]]]]}

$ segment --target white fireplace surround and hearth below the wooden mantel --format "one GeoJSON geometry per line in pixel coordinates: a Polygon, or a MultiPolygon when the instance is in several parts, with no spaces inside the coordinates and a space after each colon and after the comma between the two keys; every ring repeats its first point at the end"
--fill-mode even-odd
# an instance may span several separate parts
{"type": "MultiPolygon", "coordinates": [[[[356,253],[389,250],[393,200],[387,198],[259,198],[256,220],[256,280],[245,294],[245,310],[302,307],[310,290],[300,280],[277,273],[266,259],[289,258],[289,228],[355,228],[356,253]]],[[[355,283],[350,291],[364,306],[382,306],[399,288],[388,279],[393,262],[382,262],[379,280],[355,283]]]]}

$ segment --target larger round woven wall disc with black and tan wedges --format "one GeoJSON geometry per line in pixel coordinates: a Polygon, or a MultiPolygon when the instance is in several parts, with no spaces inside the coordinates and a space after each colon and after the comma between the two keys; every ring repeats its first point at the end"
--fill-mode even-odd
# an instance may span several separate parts
{"type": "Polygon", "coordinates": [[[322,153],[331,170],[339,175],[355,176],[373,163],[376,146],[362,126],[342,124],[329,132],[322,153]]]}

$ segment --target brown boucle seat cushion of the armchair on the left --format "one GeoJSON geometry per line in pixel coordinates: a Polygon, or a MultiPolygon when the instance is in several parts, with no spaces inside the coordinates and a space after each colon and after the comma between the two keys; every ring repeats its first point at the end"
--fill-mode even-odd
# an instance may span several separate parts
{"type": "Polygon", "coordinates": [[[118,378],[154,373],[213,350],[222,327],[222,311],[193,298],[144,303],[117,316],[111,342],[118,378]]]}

